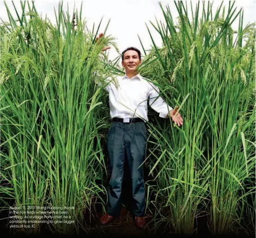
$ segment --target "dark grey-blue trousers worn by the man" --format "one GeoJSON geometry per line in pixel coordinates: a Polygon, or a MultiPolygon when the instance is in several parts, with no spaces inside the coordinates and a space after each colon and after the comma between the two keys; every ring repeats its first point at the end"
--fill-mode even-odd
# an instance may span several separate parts
{"type": "Polygon", "coordinates": [[[125,153],[132,180],[133,215],[145,215],[145,186],[143,165],[146,154],[146,125],[144,122],[112,122],[108,134],[111,178],[108,187],[107,213],[118,215],[121,209],[121,191],[125,153]],[[140,168],[139,168],[140,167],[140,168]]]}

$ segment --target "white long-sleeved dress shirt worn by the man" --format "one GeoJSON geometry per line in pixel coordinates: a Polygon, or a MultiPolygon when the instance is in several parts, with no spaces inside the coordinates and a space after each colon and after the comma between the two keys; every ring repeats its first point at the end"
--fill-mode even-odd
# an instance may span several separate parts
{"type": "MultiPolygon", "coordinates": [[[[113,75],[105,79],[105,89],[109,92],[110,116],[120,118],[139,117],[145,121],[147,118],[147,100],[153,110],[159,112],[159,116],[166,118],[168,112],[173,110],[171,106],[158,97],[159,88],[146,81],[140,74],[131,79],[127,75],[113,75]],[[114,83],[114,80],[116,83],[114,83]],[[116,88],[117,85],[117,88],[116,88]],[[156,99],[158,97],[158,99],[156,99]]],[[[99,83],[101,85],[101,83],[99,83]]]]}

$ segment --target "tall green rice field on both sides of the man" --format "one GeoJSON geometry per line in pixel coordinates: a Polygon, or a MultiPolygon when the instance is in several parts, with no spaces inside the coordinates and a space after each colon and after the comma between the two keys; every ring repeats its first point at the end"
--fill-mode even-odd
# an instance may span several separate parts
{"type": "MultiPolygon", "coordinates": [[[[140,41],[138,71],[183,116],[179,128],[148,111],[147,229],[190,235],[204,220],[211,234],[255,235],[255,23],[244,25],[246,12],[235,2],[216,12],[210,2],[193,2],[194,12],[191,2],[175,4],[178,24],[159,3],[165,22],[146,24],[152,49],[140,41]],[[238,30],[232,28],[236,19],[238,30]]],[[[109,23],[95,44],[101,22],[88,29],[82,8],[75,11],[74,28],[73,12],[64,12],[62,3],[56,26],[39,16],[33,2],[13,5],[23,13],[5,5],[9,21],[0,25],[2,221],[8,223],[10,206],[23,212],[57,207],[74,222],[64,223],[62,216],[20,232],[88,234],[95,215],[105,213],[110,179],[104,78],[125,73],[120,57],[109,62],[101,49],[119,49],[107,35],[109,23]]],[[[98,232],[104,233],[101,227],[98,232]]]]}

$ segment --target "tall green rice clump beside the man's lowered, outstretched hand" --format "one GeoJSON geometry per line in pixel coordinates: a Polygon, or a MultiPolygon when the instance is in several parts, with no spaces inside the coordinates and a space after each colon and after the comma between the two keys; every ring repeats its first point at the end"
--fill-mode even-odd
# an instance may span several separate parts
{"type": "Polygon", "coordinates": [[[183,116],[180,128],[158,115],[149,123],[153,229],[190,234],[197,217],[209,214],[213,233],[255,232],[245,226],[255,223],[255,23],[243,28],[244,13],[231,2],[227,14],[222,4],[213,13],[210,2],[198,2],[195,12],[190,3],[192,21],[187,2],[175,4],[177,25],[159,3],[165,23],[151,23],[163,44],[158,48],[148,29],[154,47],[144,61],[154,63],[140,65],[183,116]]]}

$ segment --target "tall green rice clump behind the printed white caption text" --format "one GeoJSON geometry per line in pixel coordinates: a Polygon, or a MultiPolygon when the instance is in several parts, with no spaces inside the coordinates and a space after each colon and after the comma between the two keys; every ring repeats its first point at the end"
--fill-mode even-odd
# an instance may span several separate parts
{"type": "Polygon", "coordinates": [[[62,3],[55,11],[56,26],[39,17],[34,3],[20,4],[17,22],[5,3],[9,22],[1,25],[0,35],[0,192],[11,199],[2,200],[4,209],[12,204],[23,211],[35,206],[30,211],[36,212],[43,210],[37,206],[62,207],[55,211],[68,211],[69,218],[35,223],[24,232],[38,232],[44,225],[63,233],[87,232],[83,214],[93,211],[95,203],[104,204],[106,194],[101,182],[105,137],[99,132],[108,127],[102,113],[108,109],[100,108],[102,87],[95,84],[93,72],[107,73],[101,49],[116,45],[109,37],[94,45],[100,24],[96,33],[86,30],[81,10],[73,29],[62,3]]]}

